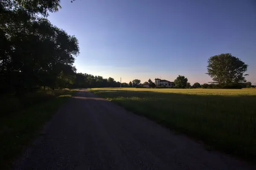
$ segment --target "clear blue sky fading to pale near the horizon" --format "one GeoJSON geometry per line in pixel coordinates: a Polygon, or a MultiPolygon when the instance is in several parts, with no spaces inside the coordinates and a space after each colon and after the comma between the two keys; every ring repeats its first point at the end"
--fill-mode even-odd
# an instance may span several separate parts
{"type": "Polygon", "coordinates": [[[211,81],[207,60],[231,53],[256,82],[255,0],[61,0],[52,24],[75,35],[77,72],[122,82],[211,81]],[[253,75],[254,74],[254,75],[253,75]]]}

